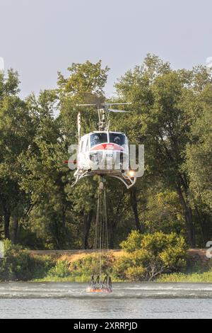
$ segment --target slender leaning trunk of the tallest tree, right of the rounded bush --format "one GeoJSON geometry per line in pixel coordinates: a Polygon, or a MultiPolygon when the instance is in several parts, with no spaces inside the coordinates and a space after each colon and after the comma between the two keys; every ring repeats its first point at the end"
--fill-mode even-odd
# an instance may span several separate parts
{"type": "Polygon", "coordinates": [[[192,216],[192,208],[190,208],[183,196],[182,193],[182,188],[179,185],[177,187],[177,193],[179,196],[179,201],[182,205],[182,209],[184,212],[184,218],[186,220],[186,224],[187,224],[187,235],[188,235],[188,240],[189,240],[189,245],[190,247],[192,247],[193,249],[196,247],[196,237],[195,237],[195,227],[194,227],[194,223],[193,223],[193,216],[192,216]]]}

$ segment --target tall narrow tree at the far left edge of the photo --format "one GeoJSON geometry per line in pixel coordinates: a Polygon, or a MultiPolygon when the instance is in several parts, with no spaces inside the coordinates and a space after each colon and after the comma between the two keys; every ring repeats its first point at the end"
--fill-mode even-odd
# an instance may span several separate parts
{"type": "Polygon", "coordinates": [[[18,73],[0,74],[0,205],[4,215],[4,237],[16,242],[18,220],[28,210],[28,198],[18,184],[19,155],[28,149],[33,125],[25,101],[18,97],[18,73]]]}

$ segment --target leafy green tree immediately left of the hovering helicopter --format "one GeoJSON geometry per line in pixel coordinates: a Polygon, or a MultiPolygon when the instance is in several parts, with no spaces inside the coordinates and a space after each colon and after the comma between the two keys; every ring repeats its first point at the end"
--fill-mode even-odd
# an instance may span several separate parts
{"type": "Polygon", "coordinates": [[[69,248],[71,232],[66,226],[66,212],[71,203],[65,186],[69,174],[64,168],[66,149],[59,121],[54,118],[55,91],[42,91],[38,98],[28,98],[35,135],[19,157],[22,165],[20,186],[30,196],[32,209],[25,228],[36,232],[47,248],[69,248]]]}

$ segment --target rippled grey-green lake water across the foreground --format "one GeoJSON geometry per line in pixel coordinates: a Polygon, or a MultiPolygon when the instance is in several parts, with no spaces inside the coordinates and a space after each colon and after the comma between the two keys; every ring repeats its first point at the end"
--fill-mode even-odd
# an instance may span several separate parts
{"type": "Polygon", "coordinates": [[[0,318],[212,318],[211,283],[0,283],[0,318]]]}

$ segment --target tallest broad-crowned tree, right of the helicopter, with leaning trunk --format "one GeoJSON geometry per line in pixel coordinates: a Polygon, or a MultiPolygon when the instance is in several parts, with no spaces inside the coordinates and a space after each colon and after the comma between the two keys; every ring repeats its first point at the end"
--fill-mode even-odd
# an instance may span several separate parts
{"type": "Polygon", "coordinates": [[[189,201],[189,176],[182,171],[192,121],[199,117],[201,91],[210,83],[204,67],[174,71],[158,57],[148,55],[116,84],[120,98],[132,101],[132,114],[123,122],[131,142],[146,145],[146,169],[164,186],[177,191],[195,247],[195,223],[189,201]]]}

